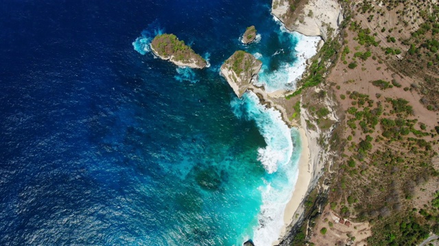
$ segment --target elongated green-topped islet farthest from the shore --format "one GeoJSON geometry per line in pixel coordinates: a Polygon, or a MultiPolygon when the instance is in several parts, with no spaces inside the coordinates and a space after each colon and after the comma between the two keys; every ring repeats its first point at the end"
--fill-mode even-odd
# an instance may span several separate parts
{"type": "Polygon", "coordinates": [[[151,50],[161,59],[171,61],[177,66],[189,68],[204,68],[207,65],[205,59],[195,53],[184,41],[178,40],[174,34],[158,35],[151,42],[151,50]]]}

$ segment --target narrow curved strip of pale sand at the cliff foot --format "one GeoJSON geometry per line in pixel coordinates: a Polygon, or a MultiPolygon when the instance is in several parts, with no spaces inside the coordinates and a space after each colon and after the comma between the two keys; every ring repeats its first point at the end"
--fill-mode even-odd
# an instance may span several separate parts
{"type": "MultiPolygon", "coordinates": [[[[300,153],[300,159],[298,163],[299,173],[292,198],[291,200],[289,200],[287,206],[285,207],[285,213],[283,216],[284,226],[281,230],[279,238],[283,238],[283,236],[285,236],[287,226],[292,223],[296,210],[298,209],[302,200],[305,198],[313,172],[313,167],[309,163],[309,145],[307,135],[303,128],[299,128],[298,131],[300,133],[300,141],[302,141],[302,152],[300,153]]],[[[275,241],[273,245],[277,245],[278,243],[278,241],[275,241]]]]}

